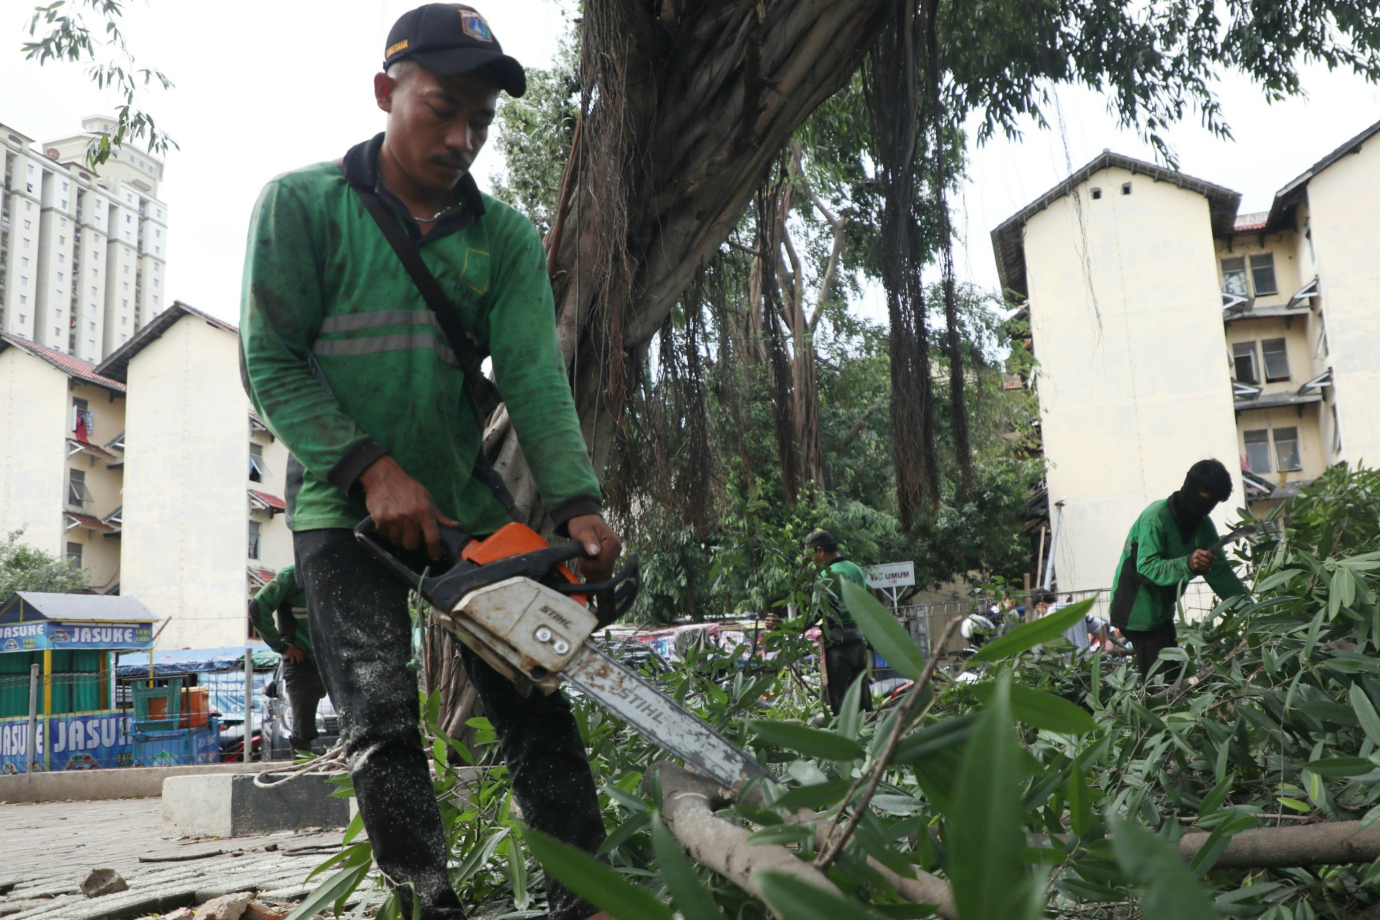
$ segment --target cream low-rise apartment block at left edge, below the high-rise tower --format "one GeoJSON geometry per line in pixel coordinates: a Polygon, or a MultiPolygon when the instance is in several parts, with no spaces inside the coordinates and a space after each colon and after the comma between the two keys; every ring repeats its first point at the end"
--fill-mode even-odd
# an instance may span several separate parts
{"type": "Polygon", "coordinates": [[[95,366],[0,334],[0,531],[119,593],[124,385],[95,366]]]}

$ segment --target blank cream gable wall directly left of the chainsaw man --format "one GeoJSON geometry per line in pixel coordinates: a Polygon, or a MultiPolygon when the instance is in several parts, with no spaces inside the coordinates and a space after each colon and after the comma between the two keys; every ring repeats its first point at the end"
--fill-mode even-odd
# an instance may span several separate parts
{"type": "Polygon", "coordinates": [[[130,361],[121,593],[171,618],[161,648],[246,637],[250,407],[237,346],[185,316],[130,361]]]}

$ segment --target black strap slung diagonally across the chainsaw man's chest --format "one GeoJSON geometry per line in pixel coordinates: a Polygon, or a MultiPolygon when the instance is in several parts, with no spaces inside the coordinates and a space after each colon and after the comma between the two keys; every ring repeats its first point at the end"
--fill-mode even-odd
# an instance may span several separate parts
{"type": "MultiPolygon", "coordinates": [[[[484,377],[479,345],[465,331],[465,327],[460,321],[460,313],[450,302],[450,298],[446,297],[440,281],[426,268],[421,251],[407,236],[407,230],[397,222],[397,215],[392,212],[388,204],[373,189],[366,189],[353,182],[351,188],[359,194],[359,200],[364,203],[364,210],[374,218],[374,223],[384,233],[384,239],[393,247],[393,252],[407,270],[407,277],[417,286],[417,291],[436,317],[442,332],[446,334],[446,341],[450,342],[450,348],[455,353],[455,360],[460,361],[460,368],[465,374],[465,394],[469,397],[469,406],[475,411],[475,419],[479,422],[479,436],[483,439],[484,422],[498,408],[498,404],[502,403],[502,396],[498,393],[494,382],[484,377]]],[[[475,479],[489,488],[494,499],[504,506],[509,517],[523,520],[522,513],[518,510],[518,502],[513,501],[512,492],[508,491],[504,477],[489,462],[483,444],[479,446],[479,457],[475,459],[473,474],[475,479]]]]}

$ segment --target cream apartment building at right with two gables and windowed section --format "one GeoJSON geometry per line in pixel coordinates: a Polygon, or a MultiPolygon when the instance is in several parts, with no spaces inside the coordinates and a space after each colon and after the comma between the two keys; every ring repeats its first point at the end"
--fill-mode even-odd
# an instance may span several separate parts
{"type": "Polygon", "coordinates": [[[1061,589],[1108,586],[1136,514],[1198,459],[1239,458],[1256,514],[1333,463],[1380,462],[1377,134],[1263,214],[1105,150],[992,232],[1029,308],[1061,589]]]}

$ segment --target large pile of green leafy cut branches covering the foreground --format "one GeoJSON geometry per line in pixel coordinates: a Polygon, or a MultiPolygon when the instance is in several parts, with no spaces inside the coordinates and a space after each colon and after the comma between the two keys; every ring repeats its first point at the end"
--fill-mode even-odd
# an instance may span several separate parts
{"type": "MultiPolygon", "coordinates": [[[[1007,633],[929,686],[922,680],[918,698],[865,719],[825,716],[800,677],[811,647],[784,630],[756,637],[753,648],[696,652],[665,672],[671,692],[776,778],[719,818],[811,862],[821,829],[854,825],[822,866],[832,892],[771,876],[760,879],[759,899],[693,868],[647,782],[662,754],[584,701],[577,712],[602,788],[606,862],[523,832],[502,767],[464,786],[447,766],[455,745],[433,731],[455,884],[469,902],[515,917],[540,916],[544,872],[622,920],[669,919],[672,909],[687,920],[933,913],[900,897],[880,868],[945,879],[945,913],[963,920],[1311,920],[1372,909],[1380,861],[1326,865],[1305,851],[1294,865],[1253,868],[1231,841],[1252,828],[1358,822],[1352,833],[1380,823],[1380,552],[1374,520],[1352,519],[1376,495],[1374,470],[1337,469],[1307,488],[1279,532],[1243,550],[1252,597],[1180,625],[1183,648],[1166,655],[1184,662],[1185,677],[1170,688],[1143,686],[1126,658],[1074,657],[1058,636],[1083,606],[1007,633]],[[887,757],[893,734],[900,741],[887,757]],[[874,777],[875,794],[861,804],[874,777]]],[[[886,610],[846,590],[878,651],[920,677],[919,651],[886,610]]],[[[483,752],[462,752],[475,754],[483,752]]],[[[323,886],[330,897],[304,908],[363,881],[367,843],[335,862],[344,869],[323,886]]]]}

